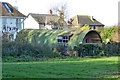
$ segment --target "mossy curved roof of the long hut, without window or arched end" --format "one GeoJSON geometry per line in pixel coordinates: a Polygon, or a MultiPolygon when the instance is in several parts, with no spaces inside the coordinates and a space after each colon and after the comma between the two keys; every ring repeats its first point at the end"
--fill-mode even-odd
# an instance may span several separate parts
{"type": "Polygon", "coordinates": [[[29,43],[47,46],[56,46],[58,36],[66,36],[73,34],[68,42],[68,45],[75,46],[83,43],[85,36],[94,30],[38,30],[25,29],[18,33],[16,40],[25,40],[29,43]]]}

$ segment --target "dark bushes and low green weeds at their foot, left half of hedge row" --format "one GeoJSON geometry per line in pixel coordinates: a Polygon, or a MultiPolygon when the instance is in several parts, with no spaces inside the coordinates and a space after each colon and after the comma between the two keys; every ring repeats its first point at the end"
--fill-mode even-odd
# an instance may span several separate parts
{"type": "Polygon", "coordinates": [[[33,61],[60,57],[60,53],[53,52],[47,46],[38,46],[27,43],[3,42],[3,61],[33,61]]]}

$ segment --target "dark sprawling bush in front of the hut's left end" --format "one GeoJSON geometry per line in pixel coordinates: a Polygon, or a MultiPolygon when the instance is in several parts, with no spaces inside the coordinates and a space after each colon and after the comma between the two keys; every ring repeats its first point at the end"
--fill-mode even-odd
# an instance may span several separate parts
{"type": "Polygon", "coordinates": [[[28,43],[3,42],[2,56],[19,57],[29,55],[31,57],[58,57],[60,54],[52,52],[47,46],[32,45],[28,43]]]}

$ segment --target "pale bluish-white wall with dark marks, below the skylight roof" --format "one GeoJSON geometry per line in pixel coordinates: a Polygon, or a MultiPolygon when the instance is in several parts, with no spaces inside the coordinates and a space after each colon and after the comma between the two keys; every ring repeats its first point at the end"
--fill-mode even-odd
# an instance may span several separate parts
{"type": "MultiPolygon", "coordinates": [[[[21,19],[18,18],[2,18],[2,36],[6,34],[7,40],[14,41],[17,32],[22,30],[21,19]]],[[[4,39],[4,38],[3,38],[4,39]]]]}

